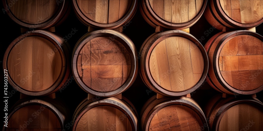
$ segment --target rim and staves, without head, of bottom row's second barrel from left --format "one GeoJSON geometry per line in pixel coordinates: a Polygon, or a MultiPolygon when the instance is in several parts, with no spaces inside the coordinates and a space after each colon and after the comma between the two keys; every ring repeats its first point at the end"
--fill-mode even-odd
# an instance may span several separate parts
{"type": "MultiPolygon", "coordinates": [[[[96,97],[97,98],[97,97],[96,97]]],[[[120,111],[122,111],[126,116],[127,114],[129,116],[127,116],[127,118],[129,118],[130,121],[133,121],[133,123],[131,123],[131,126],[133,127],[133,130],[138,130],[138,113],[136,111],[136,109],[134,108],[133,104],[125,97],[123,97],[124,99],[117,99],[115,97],[108,97],[108,98],[99,98],[99,99],[84,99],[76,108],[74,114],[73,114],[73,125],[72,125],[72,130],[75,130],[75,128],[77,127],[77,123],[76,121],[79,121],[79,119],[85,112],[87,112],[88,110],[92,109],[93,107],[97,107],[97,106],[112,106],[112,107],[116,107],[117,109],[119,109],[120,111]],[[111,102],[107,101],[107,100],[111,100],[111,102]],[[116,102],[113,103],[112,101],[116,102]],[[125,107],[125,108],[123,108],[125,107]]]]}

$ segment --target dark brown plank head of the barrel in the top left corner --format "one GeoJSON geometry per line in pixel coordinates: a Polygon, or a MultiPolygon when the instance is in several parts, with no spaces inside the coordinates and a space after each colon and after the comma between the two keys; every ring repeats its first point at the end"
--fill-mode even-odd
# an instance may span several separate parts
{"type": "MultiPolygon", "coordinates": [[[[7,0],[10,11],[19,20],[29,24],[41,24],[58,12],[59,5],[54,0],[7,0]]],[[[62,4],[61,4],[62,5],[62,4]]]]}

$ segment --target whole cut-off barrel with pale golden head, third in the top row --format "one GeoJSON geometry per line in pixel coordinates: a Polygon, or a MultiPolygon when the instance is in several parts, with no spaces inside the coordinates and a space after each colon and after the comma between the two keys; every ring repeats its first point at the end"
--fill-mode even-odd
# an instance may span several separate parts
{"type": "Polygon", "coordinates": [[[142,0],[140,12],[154,28],[182,30],[194,25],[204,13],[207,0],[142,0]]]}

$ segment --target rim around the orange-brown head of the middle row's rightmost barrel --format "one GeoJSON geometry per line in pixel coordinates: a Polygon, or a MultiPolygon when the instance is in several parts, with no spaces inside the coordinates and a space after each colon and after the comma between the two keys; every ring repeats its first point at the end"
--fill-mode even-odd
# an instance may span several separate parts
{"type": "Polygon", "coordinates": [[[256,92],[260,92],[263,90],[263,85],[261,85],[260,87],[258,87],[257,89],[255,90],[250,90],[250,91],[242,91],[242,90],[237,90],[233,87],[231,87],[225,80],[224,78],[222,77],[221,75],[221,72],[220,72],[220,69],[219,69],[219,55],[220,55],[220,52],[221,52],[221,49],[224,47],[225,43],[227,41],[229,41],[231,38],[233,38],[234,36],[238,36],[238,35],[252,35],[258,39],[260,39],[261,41],[263,41],[263,36],[257,34],[256,32],[253,32],[253,31],[249,31],[249,30],[238,30],[238,31],[230,31],[228,32],[228,34],[223,37],[217,46],[215,48],[215,52],[213,54],[213,69],[214,69],[214,73],[216,75],[219,81],[219,83],[226,89],[228,90],[229,92],[232,92],[234,94],[240,94],[240,95],[250,95],[250,94],[255,94],[256,92]],[[219,74],[220,73],[220,74],[219,74]]]}

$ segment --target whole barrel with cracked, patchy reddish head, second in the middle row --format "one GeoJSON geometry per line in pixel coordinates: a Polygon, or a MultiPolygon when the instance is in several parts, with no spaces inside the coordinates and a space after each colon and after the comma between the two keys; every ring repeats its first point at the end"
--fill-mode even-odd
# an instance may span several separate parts
{"type": "Polygon", "coordinates": [[[114,96],[127,90],[138,73],[133,42],[115,30],[85,34],[75,45],[72,69],[77,84],[95,96],[114,96]]]}

